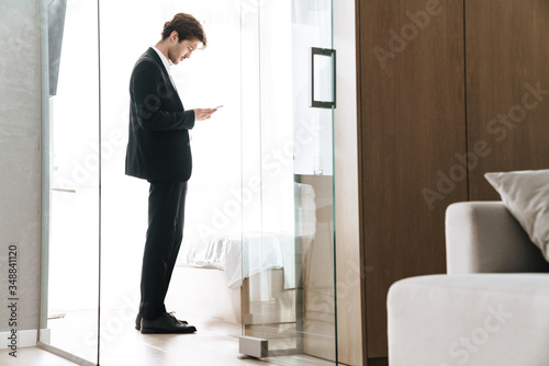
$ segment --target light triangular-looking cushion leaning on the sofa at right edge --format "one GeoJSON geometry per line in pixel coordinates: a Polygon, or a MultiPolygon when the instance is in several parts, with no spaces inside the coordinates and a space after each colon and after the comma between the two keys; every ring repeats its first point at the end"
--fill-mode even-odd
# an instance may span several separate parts
{"type": "Polygon", "coordinates": [[[484,176],[549,261],[549,170],[486,173],[484,176]]]}

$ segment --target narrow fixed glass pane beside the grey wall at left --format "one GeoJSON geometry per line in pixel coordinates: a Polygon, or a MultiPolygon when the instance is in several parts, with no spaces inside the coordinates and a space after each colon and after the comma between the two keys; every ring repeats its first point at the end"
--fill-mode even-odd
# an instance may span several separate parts
{"type": "Polygon", "coordinates": [[[41,345],[98,363],[99,57],[93,1],[43,1],[48,116],[43,151],[41,345]],[[46,37],[47,35],[47,37],[46,37]]]}

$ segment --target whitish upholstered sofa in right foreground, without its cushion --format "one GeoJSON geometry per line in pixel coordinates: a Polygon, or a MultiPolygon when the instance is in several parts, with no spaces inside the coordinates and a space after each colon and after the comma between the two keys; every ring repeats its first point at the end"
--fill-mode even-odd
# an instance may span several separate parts
{"type": "Polygon", "coordinates": [[[448,274],[396,282],[391,366],[548,366],[549,263],[502,202],[446,213],[448,274]]]}

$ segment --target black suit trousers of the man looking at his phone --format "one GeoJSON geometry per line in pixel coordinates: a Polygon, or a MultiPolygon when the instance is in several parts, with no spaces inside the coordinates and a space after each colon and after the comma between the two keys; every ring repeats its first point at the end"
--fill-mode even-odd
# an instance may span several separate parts
{"type": "Polygon", "coordinates": [[[166,312],[164,300],[183,239],[187,182],[149,183],[139,313],[155,319],[166,312]]]}

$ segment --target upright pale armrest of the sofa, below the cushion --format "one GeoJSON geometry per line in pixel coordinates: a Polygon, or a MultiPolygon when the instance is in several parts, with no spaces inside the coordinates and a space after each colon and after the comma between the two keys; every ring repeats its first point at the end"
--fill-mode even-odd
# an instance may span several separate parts
{"type": "Polygon", "coordinates": [[[448,274],[549,272],[549,263],[503,202],[460,202],[446,210],[448,274]]]}

